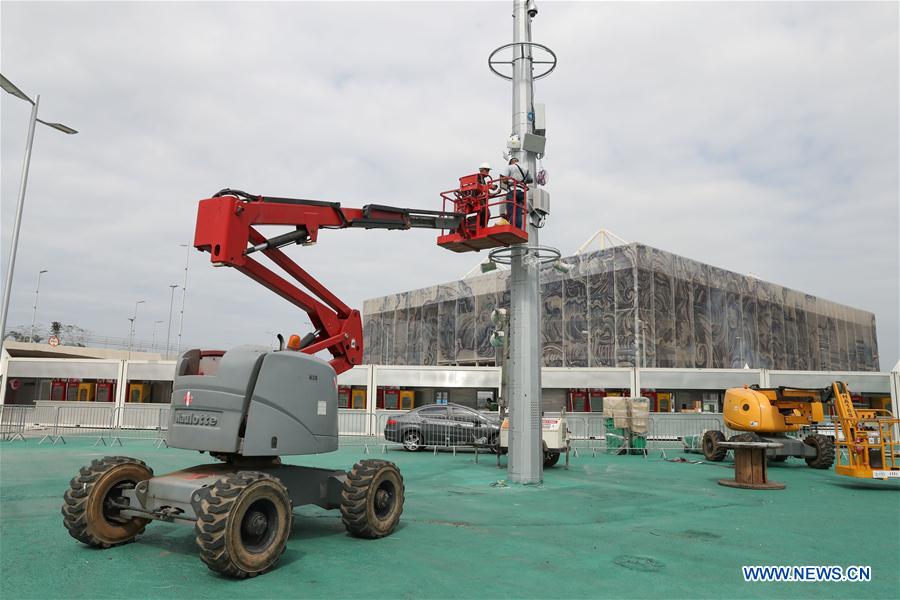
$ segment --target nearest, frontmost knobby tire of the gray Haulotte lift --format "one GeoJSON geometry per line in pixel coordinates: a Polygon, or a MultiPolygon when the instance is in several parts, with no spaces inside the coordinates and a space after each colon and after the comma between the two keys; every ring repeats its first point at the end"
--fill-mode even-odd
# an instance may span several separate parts
{"type": "Polygon", "coordinates": [[[291,497],[281,481],[267,473],[238,471],[198,494],[194,533],[200,560],[210,570],[244,578],[275,566],[293,522],[291,497]]]}

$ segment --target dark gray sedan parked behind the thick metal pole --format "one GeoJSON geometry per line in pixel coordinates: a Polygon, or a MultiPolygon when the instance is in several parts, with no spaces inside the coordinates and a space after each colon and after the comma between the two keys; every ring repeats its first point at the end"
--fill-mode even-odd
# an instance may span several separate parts
{"type": "Polygon", "coordinates": [[[500,420],[459,404],[429,404],[389,417],[384,439],[409,452],[427,446],[482,446],[496,451],[500,420]]]}

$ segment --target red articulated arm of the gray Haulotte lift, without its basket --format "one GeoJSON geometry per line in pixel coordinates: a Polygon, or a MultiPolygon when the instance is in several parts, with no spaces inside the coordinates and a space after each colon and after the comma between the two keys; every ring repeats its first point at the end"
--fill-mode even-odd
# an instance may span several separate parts
{"type": "Polygon", "coordinates": [[[300,350],[315,354],[328,350],[338,374],[362,363],[362,320],[315,277],[282,252],[289,244],[316,243],[322,229],[457,229],[465,215],[457,212],[416,210],[369,204],[343,208],[337,202],[299,198],[255,196],[224,189],[200,201],[194,247],[209,252],[214,266],[234,267],[244,275],[303,309],[314,331],[300,342],[300,350]],[[294,231],[266,238],[257,230],[263,225],[288,225],[294,231]],[[257,261],[262,252],[304,291],[285,277],[257,261]]]}

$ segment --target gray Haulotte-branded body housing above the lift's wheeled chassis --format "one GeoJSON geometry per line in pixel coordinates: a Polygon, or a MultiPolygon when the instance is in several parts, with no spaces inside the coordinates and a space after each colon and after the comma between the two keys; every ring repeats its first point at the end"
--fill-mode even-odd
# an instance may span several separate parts
{"type": "Polygon", "coordinates": [[[238,346],[213,373],[201,353],[178,358],[167,443],[245,457],[337,450],[337,375],[325,361],[291,350],[238,346]]]}

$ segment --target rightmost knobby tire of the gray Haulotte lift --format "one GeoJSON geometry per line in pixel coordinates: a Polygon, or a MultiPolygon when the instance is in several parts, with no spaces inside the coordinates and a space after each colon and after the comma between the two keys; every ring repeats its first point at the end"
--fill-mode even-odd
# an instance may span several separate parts
{"type": "Polygon", "coordinates": [[[341,490],[341,521],[351,535],[376,539],[393,533],[403,513],[400,470],[386,460],[361,460],[347,472],[341,490]]]}

